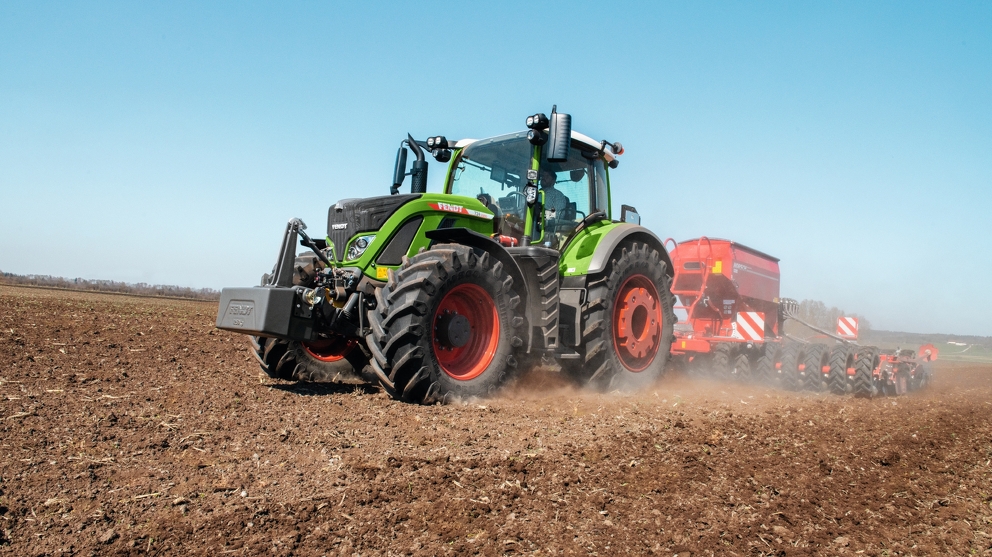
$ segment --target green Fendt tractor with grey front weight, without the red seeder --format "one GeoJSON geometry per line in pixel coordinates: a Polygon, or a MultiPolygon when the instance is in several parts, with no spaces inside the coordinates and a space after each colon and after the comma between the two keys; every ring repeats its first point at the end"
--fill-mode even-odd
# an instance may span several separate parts
{"type": "Polygon", "coordinates": [[[251,335],[271,377],[359,377],[408,402],[485,397],[552,362],[597,390],[653,382],[672,264],[633,207],[612,219],[623,148],[555,109],[526,121],[489,139],[408,136],[392,195],[335,203],[324,239],[291,220],[261,286],[223,290],[217,327],[251,335]],[[426,191],[425,151],[448,163],[444,193],[426,191]]]}

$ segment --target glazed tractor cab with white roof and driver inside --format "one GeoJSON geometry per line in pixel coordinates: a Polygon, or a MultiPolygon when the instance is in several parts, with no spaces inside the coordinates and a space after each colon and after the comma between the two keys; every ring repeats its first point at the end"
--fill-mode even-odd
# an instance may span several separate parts
{"type": "Polygon", "coordinates": [[[614,156],[601,142],[571,132],[567,158],[552,162],[528,135],[457,142],[444,193],[482,202],[496,215],[494,230],[504,244],[559,249],[590,215],[609,219],[606,167],[614,156]],[[537,188],[531,203],[528,185],[537,188]]]}

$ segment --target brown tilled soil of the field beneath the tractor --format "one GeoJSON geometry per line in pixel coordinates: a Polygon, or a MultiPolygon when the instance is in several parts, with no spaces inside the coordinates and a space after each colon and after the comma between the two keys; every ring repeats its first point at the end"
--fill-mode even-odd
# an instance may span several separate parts
{"type": "Polygon", "coordinates": [[[899,399],[259,378],[210,303],[0,287],[0,554],[992,555],[992,366],[899,399]]]}

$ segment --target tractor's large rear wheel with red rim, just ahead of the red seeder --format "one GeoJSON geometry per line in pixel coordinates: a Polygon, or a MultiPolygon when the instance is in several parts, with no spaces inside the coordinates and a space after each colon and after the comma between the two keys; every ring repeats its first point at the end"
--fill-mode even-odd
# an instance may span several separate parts
{"type": "Polygon", "coordinates": [[[573,381],[599,391],[633,391],[665,372],[675,311],[667,265],[640,242],[614,252],[609,267],[589,277],[582,308],[582,358],[562,362],[573,381]]]}

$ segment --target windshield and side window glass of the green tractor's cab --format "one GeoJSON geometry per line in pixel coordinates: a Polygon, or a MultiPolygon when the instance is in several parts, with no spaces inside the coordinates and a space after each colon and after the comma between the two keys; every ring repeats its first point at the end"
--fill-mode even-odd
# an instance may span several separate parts
{"type": "MultiPolygon", "coordinates": [[[[527,132],[476,141],[456,156],[448,192],[479,199],[500,218],[501,234],[522,237],[532,152],[527,132]]],[[[550,163],[542,156],[538,174],[546,241],[553,245],[588,215],[609,214],[606,169],[595,147],[573,139],[568,161],[550,163]]]]}

